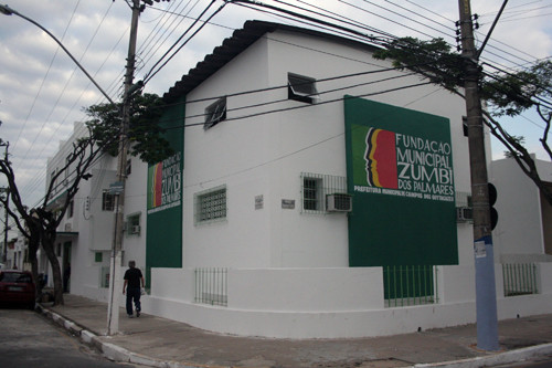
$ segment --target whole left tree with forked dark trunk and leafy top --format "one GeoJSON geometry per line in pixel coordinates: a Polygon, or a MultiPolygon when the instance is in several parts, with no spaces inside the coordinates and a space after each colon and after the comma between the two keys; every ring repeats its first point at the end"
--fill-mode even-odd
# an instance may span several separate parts
{"type": "MultiPolygon", "coordinates": [[[[157,95],[138,96],[131,104],[130,132],[127,139],[131,143],[131,154],[142,160],[155,162],[173,154],[168,141],[161,136],[163,130],[158,126],[162,114],[161,98],[157,95]]],[[[92,119],[87,122],[87,136],[73,143],[65,165],[50,178],[46,192],[38,207],[29,209],[24,206],[11,162],[0,159],[0,174],[8,180],[9,192],[0,202],[7,208],[23,236],[29,240],[29,259],[32,264],[33,278],[39,285],[36,252],[44,250],[53,272],[54,305],[63,304],[63,280],[60,262],[55,254],[56,230],[63,220],[81,181],[91,177],[89,170],[96,159],[104,153],[117,155],[119,144],[120,105],[102,104],[85,109],[92,119]],[[67,180],[61,180],[61,179],[67,180]],[[59,182],[65,182],[65,191],[61,202],[55,206],[53,194],[59,182]],[[9,208],[11,200],[13,208],[9,208]]],[[[0,139],[0,144],[2,139],[0,139]]]]}

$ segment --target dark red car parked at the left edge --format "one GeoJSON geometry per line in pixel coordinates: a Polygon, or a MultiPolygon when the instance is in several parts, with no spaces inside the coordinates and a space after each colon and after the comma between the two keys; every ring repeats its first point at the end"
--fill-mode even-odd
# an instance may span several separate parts
{"type": "Polygon", "coordinates": [[[0,304],[24,305],[34,309],[36,287],[28,271],[0,271],[0,304]]]}

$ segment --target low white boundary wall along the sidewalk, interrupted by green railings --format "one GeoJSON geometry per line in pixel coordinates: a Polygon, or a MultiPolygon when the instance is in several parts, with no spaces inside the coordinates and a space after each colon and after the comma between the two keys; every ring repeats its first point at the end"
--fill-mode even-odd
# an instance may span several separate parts
{"type": "MultiPolygon", "coordinates": [[[[552,264],[538,270],[538,280],[550,280],[552,264]]],[[[499,319],[550,312],[549,286],[540,294],[503,297],[501,267],[495,273],[499,319]]],[[[152,269],[151,295],[142,306],[146,313],[241,336],[384,336],[475,323],[474,275],[474,266],[439,266],[438,303],[385,308],[381,267],[229,270],[224,307],[193,302],[193,270],[152,269]]]]}

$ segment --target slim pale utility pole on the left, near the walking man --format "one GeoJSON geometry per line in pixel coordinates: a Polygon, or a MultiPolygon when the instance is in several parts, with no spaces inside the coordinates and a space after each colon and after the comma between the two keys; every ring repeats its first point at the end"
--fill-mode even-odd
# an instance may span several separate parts
{"type": "Polygon", "coordinates": [[[130,120],[130,96],[129,90],[132,85],[135,59],[136,59],[136,39],[138,33],[138,17],[140,15],[140,0],[132,0],[132,21],[130,24],[130,41],[128,44],[127,66],[125,74],[125,85],[123,94],[123,119],[119,137],[119,155],[117,160],[117,180],[118,187],[115,202],[115,231],[110,260],[109,277],[109,299],[107,311],[107,335],[115,335],[119,329],[119,295],[121,287],[121,262],[123,262],[123,234],[125,231],[125,180],[126,164],[128,153],[128,125],[130,120]]]}

